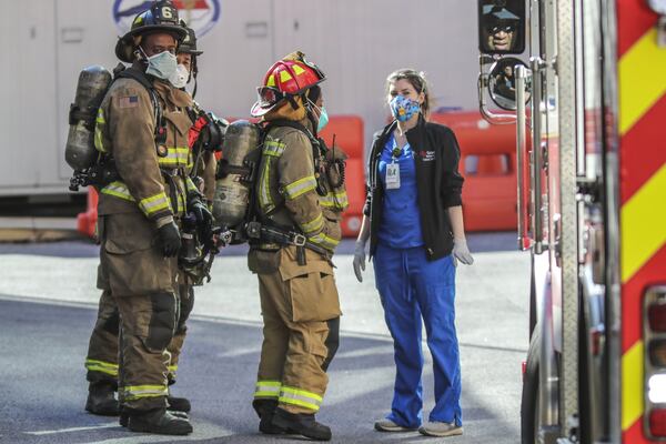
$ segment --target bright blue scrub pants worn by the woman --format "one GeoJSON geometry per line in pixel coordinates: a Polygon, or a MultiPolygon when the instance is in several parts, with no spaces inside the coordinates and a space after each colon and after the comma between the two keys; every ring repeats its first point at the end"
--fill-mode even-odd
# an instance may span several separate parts
{"type": "Polygon", "coordinates": [[[423,420],[421,317],[433,356],[435,407],[430,421],[462,425],[461,363],[455,334],[455,266],[451,255],[428,261],[422,246],[377,245],[376,287],[395,350],[395,389],[387,420],[416,428],[423,420]]]}

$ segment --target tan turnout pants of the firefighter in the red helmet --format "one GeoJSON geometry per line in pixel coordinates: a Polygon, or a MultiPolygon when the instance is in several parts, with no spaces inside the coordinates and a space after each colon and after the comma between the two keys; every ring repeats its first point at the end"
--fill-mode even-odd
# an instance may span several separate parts
{"type": "Polygon", "coordinates": [[[299,265],[291,246],[260,254],[278,254],[280,265],[273,272],[258,272],[264,327],[254,400],[278,401],[292,413],[315,413],[339,344],[341,313],[333,269],[310,251],[306,264],[299,265]]]}

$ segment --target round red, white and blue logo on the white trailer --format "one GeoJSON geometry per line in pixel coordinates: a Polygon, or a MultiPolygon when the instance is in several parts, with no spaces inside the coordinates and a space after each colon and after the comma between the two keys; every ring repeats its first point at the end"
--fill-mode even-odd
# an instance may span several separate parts
{"type": "MultiPolygon", "coordinates": [[[[113,21],[120,36],[128,32],[138,13],[150,9],[152,0],[114,0],[113,21]]],[[[220,0],[173,0],[181,19],[196,32],[204,36],[220,20],[220,0]]]]}

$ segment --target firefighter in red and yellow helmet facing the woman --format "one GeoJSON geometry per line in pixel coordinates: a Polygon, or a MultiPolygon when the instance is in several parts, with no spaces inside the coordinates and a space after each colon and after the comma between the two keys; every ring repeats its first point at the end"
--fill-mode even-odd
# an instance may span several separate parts
{"type": "Polygon", "coordinates": [[[331,258],[347,205],[343,172],[325,167],[335,164],[331,152],[339,150],[326,150],[316,138],[327,121],[319,85],[324,80],[294,52],[273,64],[258,89],[251,112],[262,117],[268,133],[255,211],[273,235],[262,234],[248,256],[264,322],[253,402],[260,431],[289,430],[317,441],[331,440],[315,413],[337,350],[341,312],[331,258]]]}

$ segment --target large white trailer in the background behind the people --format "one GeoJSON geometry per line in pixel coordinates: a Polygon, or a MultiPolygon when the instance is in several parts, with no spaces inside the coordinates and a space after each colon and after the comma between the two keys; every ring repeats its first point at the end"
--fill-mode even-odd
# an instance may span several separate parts
{"type": "MultiPolygon", "coordinates": [[[[363,118],[366,141],[386,118],[384,80],[427,73],[436,107],[473,109],[476,4],[470,0],[176,0],[203,33],[198,101],[246,117],[274,59],[301,49],[323,67],[326,108],[363,118]]],[[[79,71],[118,61],[113,48],[143,0],[6,0],[0,14],[0,198],[67,196],[69,105],[79,71]]]]}

